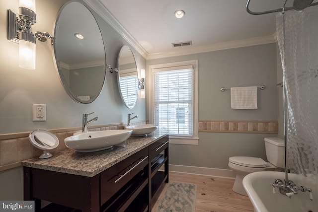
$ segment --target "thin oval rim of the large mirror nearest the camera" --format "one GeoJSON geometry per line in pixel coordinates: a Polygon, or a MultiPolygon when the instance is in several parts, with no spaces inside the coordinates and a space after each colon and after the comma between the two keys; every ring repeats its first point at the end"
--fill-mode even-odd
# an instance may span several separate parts
{"type": "MultiPolygon", "coordinates": [[[[84,25],[83,25],[84,26],[84,25]]],[[[96,28],[97,30],[97,28],[96,28]]],[[[100,30],[100,27],[96,21],[96,18],[95,16],[93,15],[93,13],[91,12],[91,10],[86,6],[84,5],[83,3],[81,2],[78,2],[77,0],[71,0],[71,1],[68,1],[66,2],[59,10],[58,12],[58,15],[57,15],[57,18],[56,18],[56,21],[55,21],[55,26],[54,26],[54,42],[53,42],[53,58],[54,58],[54,63],[55,63],[55,67],[56,67],[56,71],[58,72],[59,74],[59,78],[60,78],[60,81],[65,89],[65,91],[67,92],[67,94],[73,99],[75,100],[76,102],[79,102],[79,103],[82,103],[82,104],[89,104],[89,103],[92,103],[93,101],[95,101],[101,94],[103,88],[104,88],[104,85],[105,85],[105,81],[106,81],[106,50],[105,50],[105,43],[104,43],[104,39],[103,39],[103,36],[102,36],[102,33],[101,33],[101,30],[100,30]],[[102,84],[99,88],[99,90],[97,91],[96,89],[96,95],[94,95],[94,98],[90,99],[90,100],[82,100],[80,99],[79,97],[77,97],[77,95],[74,94],[74,92],[71,90],[70,86],[68,86],[67,82],[66,82],[66,79],[65,77],[63,76],[63,73],[61,71],[61,66],[59,65],[59,61],[58,61],[58,57],[57,57],[57,51],[56,51],[56,45],[55,45],[55,39],[56,39],[56,31],[57,31],[57,28],[59,27],[58,26],[58,21],[60,19],[60,16],[63,12],[63,9],[68,6],[70,3],[79,3],[80,5],[84,6],[86,9],[87,9],[87,12],[89,12],[91,14],[91,17],[95,20],[96,22],[96,25],[98,27],[98,31],[100,32],[100,38],[101,38],[101,43],[102,43],[102,48],[103,48],[103,52],[104,52],[104,74],[103,74],[103,81],[102,81],[102,84]]]]}

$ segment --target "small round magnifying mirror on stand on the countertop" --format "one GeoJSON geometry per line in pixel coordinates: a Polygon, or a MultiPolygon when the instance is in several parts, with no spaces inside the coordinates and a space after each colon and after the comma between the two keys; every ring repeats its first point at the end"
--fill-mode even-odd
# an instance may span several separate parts
{"type": "Polygon", "coordinates": [[[29,141],[35,147],[44,150],[39,158],[49,158],[52,154],[48,150],[52,150],[59,145],[59,139],[52,133],[45,130],[35,130],[29,134],[29,141]]]}

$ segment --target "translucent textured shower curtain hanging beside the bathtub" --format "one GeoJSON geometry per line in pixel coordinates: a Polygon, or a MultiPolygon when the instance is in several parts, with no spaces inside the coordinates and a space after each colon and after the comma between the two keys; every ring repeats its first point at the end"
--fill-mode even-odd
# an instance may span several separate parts
{"type": "Polygon", "coordinates": [[[292,173],[318,179],[318,6],[276,17],[292,173]]]}

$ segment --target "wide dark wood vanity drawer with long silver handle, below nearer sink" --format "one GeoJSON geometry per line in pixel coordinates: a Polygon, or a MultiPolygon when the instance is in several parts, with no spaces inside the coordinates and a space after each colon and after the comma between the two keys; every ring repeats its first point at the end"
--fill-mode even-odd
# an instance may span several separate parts
{"type": "Polygon", "coordinates": [[[148,177],[148,169],[145,168],[148,161],[148,148],[144,148],[103,171],[100,174],[100,205],[102,206],[136,175],[148,177]]]}

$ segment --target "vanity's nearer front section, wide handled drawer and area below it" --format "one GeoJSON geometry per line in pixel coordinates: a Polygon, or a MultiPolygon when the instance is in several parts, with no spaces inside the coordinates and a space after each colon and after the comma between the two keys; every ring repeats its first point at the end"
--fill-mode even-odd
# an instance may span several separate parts
{"type": "Polygon", "coordinates": [[[140,210],[148,211],[148,148],[144,148],[100,174],[102,212],[124,212],[139,195],[145,196],[140,210]]]}

